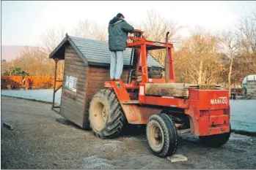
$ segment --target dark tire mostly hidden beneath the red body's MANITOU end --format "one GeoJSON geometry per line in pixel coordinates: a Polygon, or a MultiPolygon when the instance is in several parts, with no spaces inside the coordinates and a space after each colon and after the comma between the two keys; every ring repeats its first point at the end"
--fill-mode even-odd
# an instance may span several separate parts
{"type": "Polygon", "coordinates": [[[220,147],[223,144],[227,143],[230,139],[231,134],[231,125],[230,132],[224,134],[214,134],[211,136],[200,136],[200,140],[203,144],[208,145],[209,147],[220,147]]]}

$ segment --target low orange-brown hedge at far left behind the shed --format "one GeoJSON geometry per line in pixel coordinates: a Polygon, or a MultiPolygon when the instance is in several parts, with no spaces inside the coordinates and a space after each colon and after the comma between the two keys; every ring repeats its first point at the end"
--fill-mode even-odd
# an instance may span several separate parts
{"type": "MultiPolygon", "coordinates": [[[[56,82],[56,87],[61,84],[62,82],[56,82]]],[[[53,87],[54,77],[51,76],[1,76],[1,89],[33,89],[53,87]]]]}

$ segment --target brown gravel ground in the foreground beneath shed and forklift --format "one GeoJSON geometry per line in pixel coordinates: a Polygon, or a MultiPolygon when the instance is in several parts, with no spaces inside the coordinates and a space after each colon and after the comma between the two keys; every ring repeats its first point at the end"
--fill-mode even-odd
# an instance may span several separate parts
{"type": "Polygon", "coordinates": [[[150,153],[145,133],[102,140],[76,125],[56,122],[51,104],[1,97],[1,169],[255,169],[256,138],[232,134],[216,149],[197,136],[180,136],[178,152],[189,161],[171,163],[150,153]]]}

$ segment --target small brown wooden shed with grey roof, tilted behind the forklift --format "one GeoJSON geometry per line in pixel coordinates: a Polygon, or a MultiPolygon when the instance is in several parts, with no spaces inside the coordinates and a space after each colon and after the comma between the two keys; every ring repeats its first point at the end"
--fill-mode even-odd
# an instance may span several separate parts
{"type": "MultiPolygon", "coordinates": [[[[59,60],[65,60],[62,85],[56,87],[56,81],[62,81],[56,80],[56,72],[54,79],[54,101],[56,91],[62,88],[61,103],[60,106],[55,106],[53,101],[52,109],[81,128],[88,128],[89,100],[98,90],[104,88],[104,81],[110,78],[108,42],[66,34],[65,39],[49,55],[49,58],[54,59],[56,67],[59,60]]],[[[127,48],[124,51],[124,69],[121,77],[123,82],[128,80],[130,60],[131,49],[127,48]]],[[[148,54],[147,64],[149,69],[163,68],[150,54],[148,54]]]]}

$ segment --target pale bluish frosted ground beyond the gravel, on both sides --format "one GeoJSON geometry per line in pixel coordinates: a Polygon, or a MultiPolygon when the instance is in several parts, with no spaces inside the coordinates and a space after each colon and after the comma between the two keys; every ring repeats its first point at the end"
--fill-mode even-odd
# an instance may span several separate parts
{"type": "MultiPolygon", "coordinates": [[[[36,99],[52,102],[53,89],[43,90],[1,90],[4,96],[36,99]]],[[[60,104],[62,90],[58,90],[55,102],[60,104]]],[[[241,98],[239,96],[238,98],[241,98]]],[[[256,133],[256,100],[230,100],[231,128],[235,131],[256,133]]]]}

